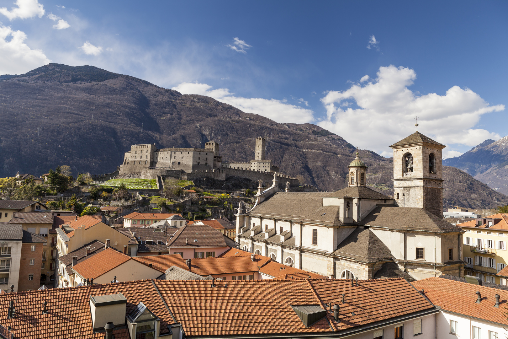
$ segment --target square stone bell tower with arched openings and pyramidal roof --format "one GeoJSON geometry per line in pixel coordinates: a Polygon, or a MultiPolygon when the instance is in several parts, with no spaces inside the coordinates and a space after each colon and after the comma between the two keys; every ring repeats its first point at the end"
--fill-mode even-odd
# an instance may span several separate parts
{"type": "Polygon", "coordinates": [[[400,207],[422,207],[442,218],[442,149],[446,145],[420,132],[393,149],[393,197],[400,207]]]}

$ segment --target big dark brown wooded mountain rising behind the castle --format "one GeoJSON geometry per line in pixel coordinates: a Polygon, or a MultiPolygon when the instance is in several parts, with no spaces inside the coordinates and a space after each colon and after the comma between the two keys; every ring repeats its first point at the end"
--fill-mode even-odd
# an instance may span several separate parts
{"type": "MultiPolygon", "coordinates": [[[[267,158],[282,173],[335,191],[345,187],[347,165],[356,151],[315,125],[278,124],[209,97],[182,95],[92,66],[49,64],[22,75],[0,76],[0,99],[0,177],[17,171],[41,175],[65,164],[74,175],[109,173],[132,144],[140,143],[204,147],[214,140],[223,162],[245,162],[254,156],[255,139],[263,136],[267,158]]],[[[393,160],[359,151],[369,166],[369,186],[391,195],[393,160]]],[[[464,192],[474,194],[471,190],[477,187],[469,184],[464,192]]],[[[458,196],[453,190],[450,194],[458,196]]],[[[481,203],[499,204],[494,199],[501,198],[489,197],[481,203]]],[[[464,199],[456,204],[465,205],[464,199]]]]}

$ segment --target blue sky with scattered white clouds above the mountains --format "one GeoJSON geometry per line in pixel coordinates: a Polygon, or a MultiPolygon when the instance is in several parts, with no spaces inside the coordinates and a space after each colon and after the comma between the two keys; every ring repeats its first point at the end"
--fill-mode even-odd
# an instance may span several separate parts
{"type": "Polygon", "coordinates": [[[385,157],[508,134],[508,2],[0,0],[0,74],[92,65],[385,157]],[[415,119],[418,117],[418,119],[415,119]]]}

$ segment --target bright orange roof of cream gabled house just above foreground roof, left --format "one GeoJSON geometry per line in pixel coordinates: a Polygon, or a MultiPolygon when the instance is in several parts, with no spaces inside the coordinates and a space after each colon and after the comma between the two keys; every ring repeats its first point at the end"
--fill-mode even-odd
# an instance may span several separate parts
{"type": "Polygon", "coordinates": [[[100,253],[86,258],[72,268],[73,271],[81,275],[84,279],[96,279],[98,276],[120,266],[131,257],[120,253],[112,248],[108,248],[100,253]]]}

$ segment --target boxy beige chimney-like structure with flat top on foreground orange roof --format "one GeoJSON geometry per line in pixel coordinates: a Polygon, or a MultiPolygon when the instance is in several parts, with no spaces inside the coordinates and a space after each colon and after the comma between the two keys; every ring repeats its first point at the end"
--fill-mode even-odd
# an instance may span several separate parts
{"type": "Polygon", "coordinates": [[[90,312],[93,329],[102,329],[108,322],[114,326],[125,324],[125,307],[127,299],[121,294],[90,295],[90,312]]]}

